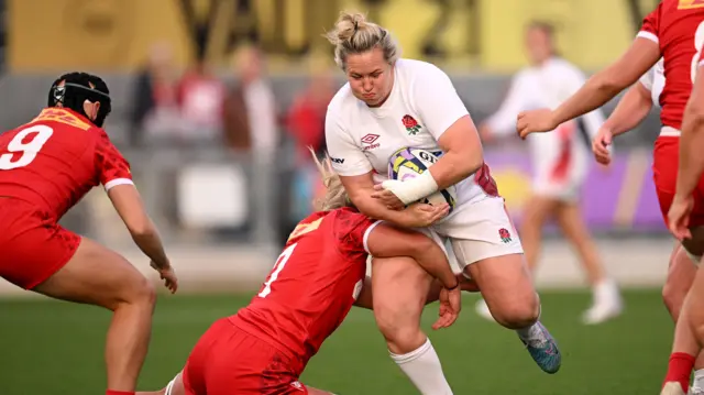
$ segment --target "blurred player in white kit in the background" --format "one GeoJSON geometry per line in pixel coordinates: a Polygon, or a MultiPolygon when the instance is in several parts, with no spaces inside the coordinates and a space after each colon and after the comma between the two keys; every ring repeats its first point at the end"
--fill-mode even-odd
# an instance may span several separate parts
{"type": "MultiPolygon", "coordinates": [[[[480,127],[485,142],[497,136],[515,135],[516,117],[525,110],[554,108],[575,92],[586,80],[584,74],[557,55],[553,28],[532,22],[526,30],[526,48],[531,65],[514,76],[501,108],[480,127]]],[[[582,319],[601,323],[618,316],[623,303],[616,282],[609,278],[580,212],[580,191],[588,169],[588,139],[604,122],[601,110],[558,127],[556,133],[536,134],[529,139],[534,165],[532,197],[526,204],[520,239],[526,250],[528,268],[535,273],[546,222],[556,218],[566,239],[574,245],[592,285],[593,304],[582,319]]],[[[482,299],[477,312],[491,318],[482,299]]]]}

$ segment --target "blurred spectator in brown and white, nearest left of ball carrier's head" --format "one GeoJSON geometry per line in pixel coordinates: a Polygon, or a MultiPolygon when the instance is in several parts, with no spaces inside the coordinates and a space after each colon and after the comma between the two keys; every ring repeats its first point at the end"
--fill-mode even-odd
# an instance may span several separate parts
{"type": "Polygon", "coordinates": [[[274,92],[264,75],[264,59],[253,46],[234,57],[238,84],[224,105],[224,138],[233,150],[253,151],[262,158],[273,156],[278,146],[274,92]]]}

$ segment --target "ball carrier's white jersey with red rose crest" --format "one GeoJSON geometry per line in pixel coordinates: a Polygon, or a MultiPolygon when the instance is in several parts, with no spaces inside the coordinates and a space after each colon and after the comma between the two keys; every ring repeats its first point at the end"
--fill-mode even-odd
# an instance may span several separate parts
{"type": "MultiPolygon", "coordinates": [[[[452,81],[437,66],[399,59],[386,101],[370,108],[345,84],[332,98],[326,117],[326,140],[336,172],[359,176],[374,171],[375,182],[388,178],[388,160],[402,147],[442,152],[438,139],[468,116],[452,81]]],[[[486,195],[474,177],[457,184],[458,204],[486,195]]]]}

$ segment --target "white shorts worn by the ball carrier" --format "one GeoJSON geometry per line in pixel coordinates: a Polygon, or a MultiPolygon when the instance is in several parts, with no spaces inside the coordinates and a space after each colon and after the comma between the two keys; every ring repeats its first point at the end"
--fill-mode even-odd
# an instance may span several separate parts
{"type": "Polygon", "coordinates": [[[431,229],[440,238],[433,240],[443,250],[443,238],[450,240],[460,270],[488,257],[524,253],[518,232],[501,197],[461,205],[447,220],[431,229]]]}

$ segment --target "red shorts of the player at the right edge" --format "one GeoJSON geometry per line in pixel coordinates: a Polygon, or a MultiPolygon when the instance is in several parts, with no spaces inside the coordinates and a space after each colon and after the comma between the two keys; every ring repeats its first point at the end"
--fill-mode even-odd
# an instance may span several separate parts
{"type": "MultiPolygon", "coordinates": [[[[680,162],[680,138],[661,136],[656,140],[652,162],[652,178],[656,184],[660,212],[668,223],[668,211],[674,199],[680,162]]],[[[704,226],[704,177],[694,189],[694,210],[690,216],[690,226],[704,226]]]]}

